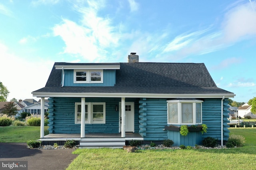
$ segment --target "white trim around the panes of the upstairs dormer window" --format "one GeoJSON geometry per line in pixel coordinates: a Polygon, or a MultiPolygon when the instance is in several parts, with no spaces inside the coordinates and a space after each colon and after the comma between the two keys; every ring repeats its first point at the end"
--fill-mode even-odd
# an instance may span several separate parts
{"type": "Polygon", "coordinates": [[[74,70],[74,83],[103,83],[103,70],[74,70]],[[76,72],[86,72],[86,81],[76,81],[76,72]],[[91,81],[91,72],[100,72],[100,81],[91,81]]]}

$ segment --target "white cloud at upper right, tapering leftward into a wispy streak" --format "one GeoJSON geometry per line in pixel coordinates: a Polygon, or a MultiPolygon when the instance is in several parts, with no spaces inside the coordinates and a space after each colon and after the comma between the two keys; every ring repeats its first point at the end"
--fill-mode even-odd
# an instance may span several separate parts
{"type": "Polygon", "coordinates": [[[226,13],[219,31],[210,32],[210,29],[206,29],[182,33],[168,43],[162,53],[175,53],[176,57],[203,55],[230,47],[244,39],[255,38],[256,12],[249,2],[236,3],[226,13]]]}

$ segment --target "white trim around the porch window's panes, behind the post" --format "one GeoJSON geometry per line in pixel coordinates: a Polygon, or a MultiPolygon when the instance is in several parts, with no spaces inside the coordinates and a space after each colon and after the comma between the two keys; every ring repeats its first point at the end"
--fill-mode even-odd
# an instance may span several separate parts
{"type": "MultiPolygon", "coordinates": [[[[88,121],[85,121],[85,124],[106,124],[106,103],[105,102],[86,102],[85,103],[88,106],[88,121]],[[92,109],[93,105],[103,105],[103,121],[93,121],[92,117],[92,109]]],[[[81,124],[81,121],[77,121],[77,106],[81,105],[81,102],[75,103],[75,124],[81,124]]]]}

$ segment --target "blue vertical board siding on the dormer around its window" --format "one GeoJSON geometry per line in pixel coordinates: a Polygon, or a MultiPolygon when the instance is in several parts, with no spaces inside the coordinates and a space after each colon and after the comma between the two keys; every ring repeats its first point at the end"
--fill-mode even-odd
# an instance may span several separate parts
{"type": "Polygon", "coordinates": [[[64,74],[64,86],[114,86],[116,84],[116,70],[103,70],[103,83],[74,83],[74,70],[64,70],[64,74]]]}

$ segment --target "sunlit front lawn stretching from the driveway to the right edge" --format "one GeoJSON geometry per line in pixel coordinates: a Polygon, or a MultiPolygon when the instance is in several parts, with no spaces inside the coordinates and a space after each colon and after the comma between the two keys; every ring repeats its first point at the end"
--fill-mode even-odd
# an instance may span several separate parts
{"type": "Polygon", "coordinates": [[[122,149],[77,149],[73,153],[79,155],[67,169],[254,169],[256,129],[230,128],[232,133],[244,136],[246,146],[210,150],[137,150],[134,153],[122,149]]]}

